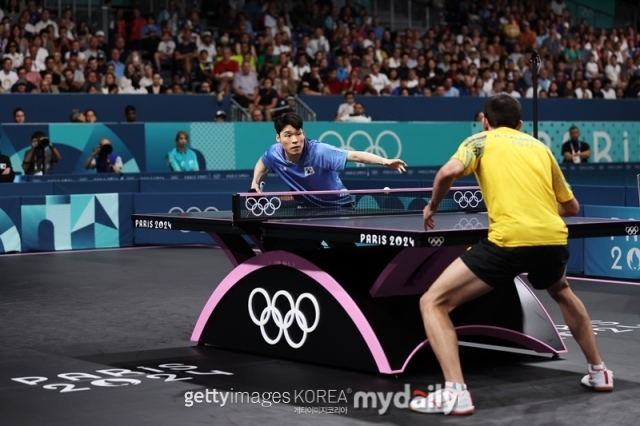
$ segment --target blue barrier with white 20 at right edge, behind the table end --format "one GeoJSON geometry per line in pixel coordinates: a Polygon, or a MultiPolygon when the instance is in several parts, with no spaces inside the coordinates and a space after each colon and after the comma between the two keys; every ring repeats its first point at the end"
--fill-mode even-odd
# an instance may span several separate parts
{"type": "MultiPolygon", "coordinates": [[[[585,206],[587,217],[640,219],[633,207],[585,206]]],[[[596,277],[640,279],[638,230],[626,237],[587,238],[584,241],[584,273],[596,277]]]]}

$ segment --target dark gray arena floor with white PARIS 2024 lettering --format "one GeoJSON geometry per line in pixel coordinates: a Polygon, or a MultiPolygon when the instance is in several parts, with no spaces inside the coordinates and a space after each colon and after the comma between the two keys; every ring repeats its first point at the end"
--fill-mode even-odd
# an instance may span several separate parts
{"type": "MultiPolygon", "coordinates": [[[[616,377],[611,394],[579,385],[585,364],[573,338],[566,336],[569,353],[561,360],[461,348],[476,405],[476,413],[469,418],[425,416],[397,408],[379,415],[374,409],[354,408],[349,395],[402,391],[405,384],[425,389],[440,383],[430,354],[423,354],[407,374],[392,378],[190,343],[204,302],[230,270],[224,255],[211,248],[0,256],[0,424],[638,423],[640,287],[574,283],[592,319],[609,323],[596,326],[596,332],[616,377]],[[119,377],[123,369],[137,374],[119,377]],[[15,378],[38,383],[29,385],[15,378]],[[344,391],[348,403],[185,406],[186,392],[207,389],[289,392],[292,398],[300,390],[334,390],[336,398],[344,391]],[[297,406],[311,405],[345,406],[349,411],[294,412],[297,406]]],[[[562,326],[553,302],[544,293],[538,296],[562,326]]]]}

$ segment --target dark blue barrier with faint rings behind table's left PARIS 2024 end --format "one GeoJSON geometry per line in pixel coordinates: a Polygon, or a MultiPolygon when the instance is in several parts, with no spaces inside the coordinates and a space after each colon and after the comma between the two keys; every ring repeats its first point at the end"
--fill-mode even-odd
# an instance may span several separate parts
{"type": "MultiPolygon", "coordinates": [[[[135,213],[175,213],[231,210],[231,197],[228,193],[202,194],[135,194],[133,196],[135,213]]],[[[157,232],[153,229],[136,228],[134,244],[214,244],[204,232],[157,232]]]]}

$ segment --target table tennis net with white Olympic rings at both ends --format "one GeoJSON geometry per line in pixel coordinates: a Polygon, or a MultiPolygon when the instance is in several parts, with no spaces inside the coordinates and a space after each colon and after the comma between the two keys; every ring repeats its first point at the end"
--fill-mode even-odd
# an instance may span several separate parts
{"type": "MultiPolygon", "coordinates": [[[[235,194],[235,220],[304,217],[378,216],[422,213],[431,188],[355,191],[311,191],[235,194]]],[[[452,188],[439,212],[486,211],[479,188],[452,188]]]]}

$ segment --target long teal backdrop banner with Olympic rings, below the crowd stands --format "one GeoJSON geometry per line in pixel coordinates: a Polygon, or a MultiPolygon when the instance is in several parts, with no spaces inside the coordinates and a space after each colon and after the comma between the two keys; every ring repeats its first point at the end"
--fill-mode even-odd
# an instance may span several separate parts
{"type": "MultiPolygon", "coordinates": [[[[539,138],[561,160],[562,143],[568,140],[572,125],[581,130],[581,139],[591,145],[588,164],[565,164],[569,180],[585,183],[630,183],[640,172],[640,123],[632,122],[540,122],[539,138]],[[635,165],[613,165],[628,163],[635,165]],[[608,165],[599,168],[600,165],[608,165]],[[592,172],[605,170],[596,181],[592,172]]],[[[439,167],[449,160],[459,144],[481,130],[478,123],[327,123],[310,122],[304,126],[308,137],[339,148],[367,151],[387,158],[403,158],[409,168],[439,167]]],[[[56,174],[95,175],[85,170],[85,161],[102,138],[107,138],[123,161],[124,178],[129,174],[167,173],[167,153],[175,147],[178,131],[186,131],[198,157],[200,170],[253,170],[256,161],[276,142],[271,123],[132,123],[132,124],[24,124],[0,126],[2,152],[20,171],[31,135],[44,131],[62,156],[55,165],[56,174]]],[[[531,123],[522,131],[531,133],[531,123]]],[[[363,169],[349,163],[347,170],[363,169]]],[[[205,172],[206,173],[206,172],[205,172]]],[[[368,172],[367,172],[368,173],[368,172]]]]}

